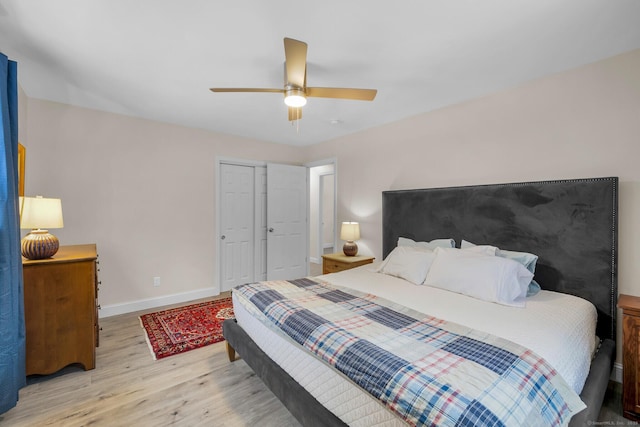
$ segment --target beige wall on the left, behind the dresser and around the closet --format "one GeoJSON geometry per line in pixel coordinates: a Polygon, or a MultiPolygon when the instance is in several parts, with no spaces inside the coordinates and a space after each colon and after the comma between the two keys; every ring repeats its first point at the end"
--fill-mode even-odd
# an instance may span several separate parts
{"type": "Polygon", "coordinates": [[[217,294],[216,158],[301,157],[282,144],[37,99],[27,115],[25,194],[62,199],[65,227],[52,230],[61,244],[98,245],[103,315],[217,294]]]}

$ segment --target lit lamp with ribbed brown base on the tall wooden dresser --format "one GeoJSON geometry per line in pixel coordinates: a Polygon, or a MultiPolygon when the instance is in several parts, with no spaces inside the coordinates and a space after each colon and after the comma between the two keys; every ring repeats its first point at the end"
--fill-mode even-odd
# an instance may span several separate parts
{"type": "Polygon", "coordinates": [[[60,242],[48,228],[62,228],[62,202],[42,196],[20,197],[20,228],[31,229],[22,239],[22,256],[28,259],[51,258],[60,242]]]}

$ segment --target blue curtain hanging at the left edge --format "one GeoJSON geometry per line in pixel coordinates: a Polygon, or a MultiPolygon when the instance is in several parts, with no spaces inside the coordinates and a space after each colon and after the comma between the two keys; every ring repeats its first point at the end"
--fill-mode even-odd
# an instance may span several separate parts
{"type": "Polygon", "coordinates": [[[18,64],[0,53],[0,414],[16,406],[26,382],[17,73],[18,64]]]}

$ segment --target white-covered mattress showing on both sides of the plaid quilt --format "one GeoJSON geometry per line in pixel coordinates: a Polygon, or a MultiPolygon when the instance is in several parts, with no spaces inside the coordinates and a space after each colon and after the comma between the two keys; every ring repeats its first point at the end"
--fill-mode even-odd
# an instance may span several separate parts
{"type": "MultiPolygon", "coordinates": [[[[369,292],[414,310],[473,327],[526,346],[544,357],[579,393],[596,346],[596,310],[589,302],[541,291],[514,308],[375,272],[367,265],[321,276],[337,286],[369,292]]],[[[274,332],[244,308],[233,294],[238,324],[269,357],[345,423],[353,426],[404,425],[378,400],[289,338],[274,332]]]]}

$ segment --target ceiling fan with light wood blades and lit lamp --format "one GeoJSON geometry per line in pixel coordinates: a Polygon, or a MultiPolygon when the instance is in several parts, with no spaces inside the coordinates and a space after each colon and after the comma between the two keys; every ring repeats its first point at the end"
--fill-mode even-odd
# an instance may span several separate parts
{"type": "Polygon", "coordinates": [[[284,88],[211,88],[212,92],[272,92],[284,94],[284,103],[289,109],[289,120],[302,118],[302,107],[307,97],[355,99],[373,101],[375,89],[352,89],[337,87],[307,87],[307,44],[290,38],[284,39],[284,88]]]}

